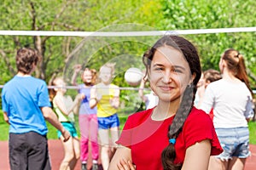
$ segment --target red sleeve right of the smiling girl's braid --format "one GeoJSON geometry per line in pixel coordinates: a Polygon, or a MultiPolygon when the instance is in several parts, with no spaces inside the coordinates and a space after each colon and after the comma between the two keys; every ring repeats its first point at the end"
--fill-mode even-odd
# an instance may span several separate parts
{"type": "Polygon", "coordinates": [[[219,155],[223,151],[219,144],[212,119],[204,111],[193,108],[187,121],[184,123],[183,137],[186,149],[196,142],[210,139],[212,144],[212,156],[219,155]]]}

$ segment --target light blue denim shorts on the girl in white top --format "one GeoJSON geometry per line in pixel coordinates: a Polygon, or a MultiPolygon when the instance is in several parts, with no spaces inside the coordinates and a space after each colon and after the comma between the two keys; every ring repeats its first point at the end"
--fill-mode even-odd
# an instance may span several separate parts
{"type": "Polygon", "coordinates": [[[216,128],[215,131],[224,150],[217,156],[219,159],[228,161],[233,156],[247,158],[251,155],[248,127],[216,128]]]}

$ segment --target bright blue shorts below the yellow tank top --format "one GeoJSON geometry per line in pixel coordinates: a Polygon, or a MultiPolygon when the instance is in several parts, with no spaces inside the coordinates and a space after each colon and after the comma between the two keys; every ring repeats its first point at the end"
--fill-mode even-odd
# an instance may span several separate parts
{"type": "Polygon", "coordinates": [[[115,113],[108,117],[98,117],[100,129],[108,129],[110,127],[119,127],[119,116],[115,113]]]}

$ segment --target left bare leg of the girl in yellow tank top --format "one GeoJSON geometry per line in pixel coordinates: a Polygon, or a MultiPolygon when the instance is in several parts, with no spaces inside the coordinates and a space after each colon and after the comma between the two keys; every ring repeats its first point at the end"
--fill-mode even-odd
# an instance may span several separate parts
{"type": "Polygon", "coordinates": [[[101,159],[103,170],[108,169],[109,165],[109,134],[108,129],[99,129],[100,144],[102,145],[101,159]]]}

